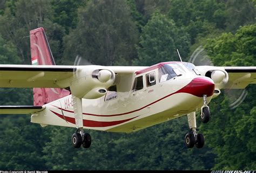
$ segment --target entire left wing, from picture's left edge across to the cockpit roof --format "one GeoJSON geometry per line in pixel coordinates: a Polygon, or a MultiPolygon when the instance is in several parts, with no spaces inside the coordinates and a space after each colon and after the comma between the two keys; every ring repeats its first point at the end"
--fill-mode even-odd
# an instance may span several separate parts
{"type": "MultiPolygon", "coordinates": [[[[105,68],[114,73],[134,73],[145,67],[129,66],[52,66],[52,65],[0,65],[0,87],[8,88],[65,88],[70,82],[61,82],[76,78],[77,71],[83,68],[105,68]]],[[[91,71],[91,70],[90,70],[91,71]]]]}

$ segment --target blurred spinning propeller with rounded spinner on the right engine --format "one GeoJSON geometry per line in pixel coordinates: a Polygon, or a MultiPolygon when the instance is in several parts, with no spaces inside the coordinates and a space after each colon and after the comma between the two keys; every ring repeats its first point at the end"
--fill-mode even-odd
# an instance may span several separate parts
{"type": "MultiPolygon", "coordinates": [[[[202,45],[198,46],[196,50],[191,54],[188,62],[196,65],[196,66],[214,66],[211,58],[207,55],[207,51],[204,49],[202,45]]],[[[214,81],[219,81],[221,79],[221,74],[218,74],[219,71],[214,71],[211,74],[211,78],[216,78],[214,81]]],[[[246,98],[248,92],[246,89],[224,89],[224,94],[228,98],[228,106],[230,109],[237,108],[246,98]]]]}

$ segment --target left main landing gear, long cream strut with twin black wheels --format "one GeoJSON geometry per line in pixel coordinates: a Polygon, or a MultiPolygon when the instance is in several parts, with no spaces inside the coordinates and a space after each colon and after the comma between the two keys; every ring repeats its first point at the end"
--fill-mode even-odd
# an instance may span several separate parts
{"type": "Polygon", "coordinates": [[[84,148],[89,148],[91,146],[91,135],[89,133],[84,133],[83,130],[82,99],[72,95],[72,102],[76,128],[78,129],[71,137],[73,147],[80,148],[82,145],[84,148]]]}

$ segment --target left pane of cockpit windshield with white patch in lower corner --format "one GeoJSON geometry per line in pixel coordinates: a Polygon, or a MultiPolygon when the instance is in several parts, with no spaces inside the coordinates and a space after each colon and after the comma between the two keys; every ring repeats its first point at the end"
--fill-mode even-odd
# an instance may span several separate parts
{"type": "Polygon", "coordinates": [[[170,80],[174,77],[177,77],[177,74],[173,71],[173,68],[169,65],[164,65],[158,70],[159,82],[164,82],[170,80]]]}

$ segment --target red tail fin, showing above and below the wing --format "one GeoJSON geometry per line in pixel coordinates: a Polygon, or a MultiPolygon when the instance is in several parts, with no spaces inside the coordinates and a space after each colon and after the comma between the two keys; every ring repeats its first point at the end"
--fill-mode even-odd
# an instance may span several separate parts
{"type": "MultiPolygon", "coordinates": [[[[32,65],[55,65],[43,27],[30,31],[30,51],[32,65]]],[[[69,94],[66,89],[33,88],[33,105],[42,106],[69,94]]]]}

